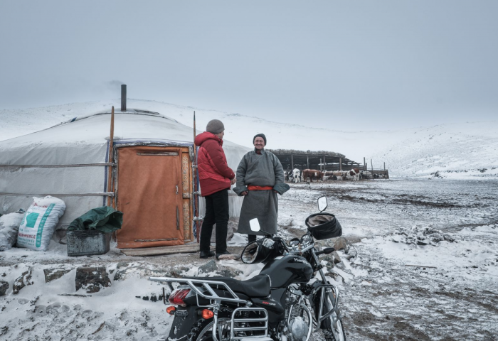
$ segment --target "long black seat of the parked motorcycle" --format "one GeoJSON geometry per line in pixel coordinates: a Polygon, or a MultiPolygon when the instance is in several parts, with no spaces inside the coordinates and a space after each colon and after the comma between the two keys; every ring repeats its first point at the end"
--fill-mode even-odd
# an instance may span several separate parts
{"type": "Polygon", "coordinates": [[[270,277],[258,275],[245,281],[238,281],[231,277],[184,277],[189,279],[206,279],[206,281],[219,281],[228,284],[235,293],[243,293],[253,298],[263,298],[270,295],[270,277]]]}

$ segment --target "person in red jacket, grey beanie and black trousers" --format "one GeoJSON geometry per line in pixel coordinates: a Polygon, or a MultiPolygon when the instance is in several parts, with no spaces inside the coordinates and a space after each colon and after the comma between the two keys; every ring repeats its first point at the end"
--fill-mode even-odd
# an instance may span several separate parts
{"type": "Polygon", "coordinates": [[[218,119],[212,119],[206,131],[196,136],[199,147],[197,170],[201,183],[201,195],[206,198],[206,215],[201,228],[201,258],[214,256],[209,251],[213,224],[216,223],[216,259],[226,250],[226,234],[228,231],[228,189],[235,183],[235,173],[228,167],[223,151],[223,135],[225,126],[218,119]]]}

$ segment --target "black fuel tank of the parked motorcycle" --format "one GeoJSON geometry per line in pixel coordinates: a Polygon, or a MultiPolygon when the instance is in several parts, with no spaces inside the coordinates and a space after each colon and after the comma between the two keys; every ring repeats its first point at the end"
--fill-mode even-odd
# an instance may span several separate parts
{"type": "Polygon", "coordinates": [[[291,283],[308,283],[312,266],[302,256],[280,256],[269,261],[260,274],[270,276],[272,288],[286,288],[291,283]]]}

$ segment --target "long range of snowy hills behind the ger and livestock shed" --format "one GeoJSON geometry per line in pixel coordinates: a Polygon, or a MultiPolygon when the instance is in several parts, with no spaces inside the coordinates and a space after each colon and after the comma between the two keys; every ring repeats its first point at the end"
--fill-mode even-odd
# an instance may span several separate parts
{"type": "MultiPolygon", "coordinates": [[[[60,121],[109,109],[112,105],[119,108],[120,100],[0,110],[0,140],[29,134],[60,121]]],[[[498,121],[441,124],[397,131],[341,131],[340,121],[337,121],[337,126],[317,129],[306,126],[304,118],[302,121],[275,122],[139,99],[128,99],[127,107],[159,112],[188,126],[193,125],[195,110],[198,130],[203,130],[210,119],[221,119],[226,127],[225,138],[237,144],[251,146],[255,134],[265,133],[268,148],[335,151],[359,163],[365,157],[369,168],[370,159],[373,168],[382,168],[385,162],[391,176],[498,176],[498,121]]]]}

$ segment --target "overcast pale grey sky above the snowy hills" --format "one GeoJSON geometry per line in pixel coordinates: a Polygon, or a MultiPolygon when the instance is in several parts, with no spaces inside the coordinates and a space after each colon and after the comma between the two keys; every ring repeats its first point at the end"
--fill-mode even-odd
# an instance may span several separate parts
{"type": "Polygon", "coordinates": [[[0,109],[128,97],[334,129],[496,119],[498,1],[0,0],[0,109]]]}

